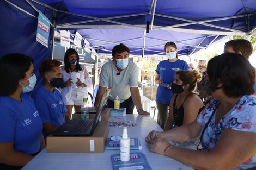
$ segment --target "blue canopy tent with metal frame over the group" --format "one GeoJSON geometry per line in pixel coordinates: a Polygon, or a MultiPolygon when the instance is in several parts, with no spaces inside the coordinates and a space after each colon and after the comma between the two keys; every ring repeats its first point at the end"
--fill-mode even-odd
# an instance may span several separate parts
{"type": "Polygon", "coordinates": [[[163,54],[167,41],[178,45],[179,55],[190,56],[227,36],[256,30],[254,0],[1,0],[0,10],[0,56],[30,55],[35,70],[51,58],[54,30],[78,30],[90,43],[85,48],[97,53],[110,53],[122,42],[142,56],[163,54]],[[35,41],[39,10],[51,21],[48,48],[35,41]]]}

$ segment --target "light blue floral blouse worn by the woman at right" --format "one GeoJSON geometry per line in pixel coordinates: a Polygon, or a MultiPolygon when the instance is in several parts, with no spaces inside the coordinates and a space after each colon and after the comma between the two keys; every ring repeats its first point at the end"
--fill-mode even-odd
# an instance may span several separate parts
{"type": "MultiPolygon", "coordinates": [[[[220,101],[212,99],[197,118],[198,124],[204,127],[210,116],[214,114],[202,137],[201,144],[203,150],[209,151],[214,148],[224,129],[256,133],[256,95],[245,95],[241,97],[239,102],[215,125],[216,108],[219,104],[220,101]]],[[[251,167],[256,167],[256,155],[253,155],[235,169],[251,167]]]]}

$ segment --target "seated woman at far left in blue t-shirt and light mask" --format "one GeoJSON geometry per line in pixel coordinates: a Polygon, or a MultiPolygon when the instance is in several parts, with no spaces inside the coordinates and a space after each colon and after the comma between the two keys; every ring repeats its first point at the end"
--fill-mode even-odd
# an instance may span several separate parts
{"type": "Polygon", "coordinates": [[[22,54],[0,59],[0,169],[20,169],[45,147],[33,99],[33,60],[22,54]]]}

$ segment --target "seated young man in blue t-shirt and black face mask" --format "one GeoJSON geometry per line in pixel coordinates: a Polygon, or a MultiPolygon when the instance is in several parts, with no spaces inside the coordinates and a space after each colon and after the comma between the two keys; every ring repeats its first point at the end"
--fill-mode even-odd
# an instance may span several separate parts
{"type": "Polygon", "coordinates": [[[39,68],[42,84],[34,91],[32,98],[42,120],[45,138],[60,125],[70,119],[66,112],[59,91],[56,89],[63,85],[61,62],[57,60],[44,60],[39,68]]]}

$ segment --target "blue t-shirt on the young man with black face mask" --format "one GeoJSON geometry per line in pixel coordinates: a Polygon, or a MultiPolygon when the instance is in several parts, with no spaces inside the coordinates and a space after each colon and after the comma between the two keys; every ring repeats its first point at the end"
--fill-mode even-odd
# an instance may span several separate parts
{"type": "MultiPolygon", "coordinates": [[[[53,92],[40,85],[33,93],[35,106],[38,109],[42,123],[50,122],[59,127],[65,123],[65,113],[68,111],[63,103],[62,96],[57,89],[53,92]]],[[[47,134],[44,134],[47,136],[47,134]]]]}

